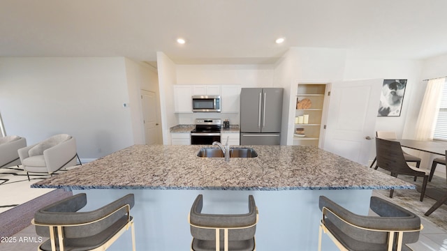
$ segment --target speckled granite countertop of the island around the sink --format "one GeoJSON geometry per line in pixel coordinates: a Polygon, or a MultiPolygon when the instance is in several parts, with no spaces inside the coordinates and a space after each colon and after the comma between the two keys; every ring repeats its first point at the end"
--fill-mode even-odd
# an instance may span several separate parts
{"type": "Polygon", "coordinates": [[[316,146],[251,146],[257,158],[200,158],[201,145],[134,145],[33,188],[154,190],[414,189],[316,146]]]}

